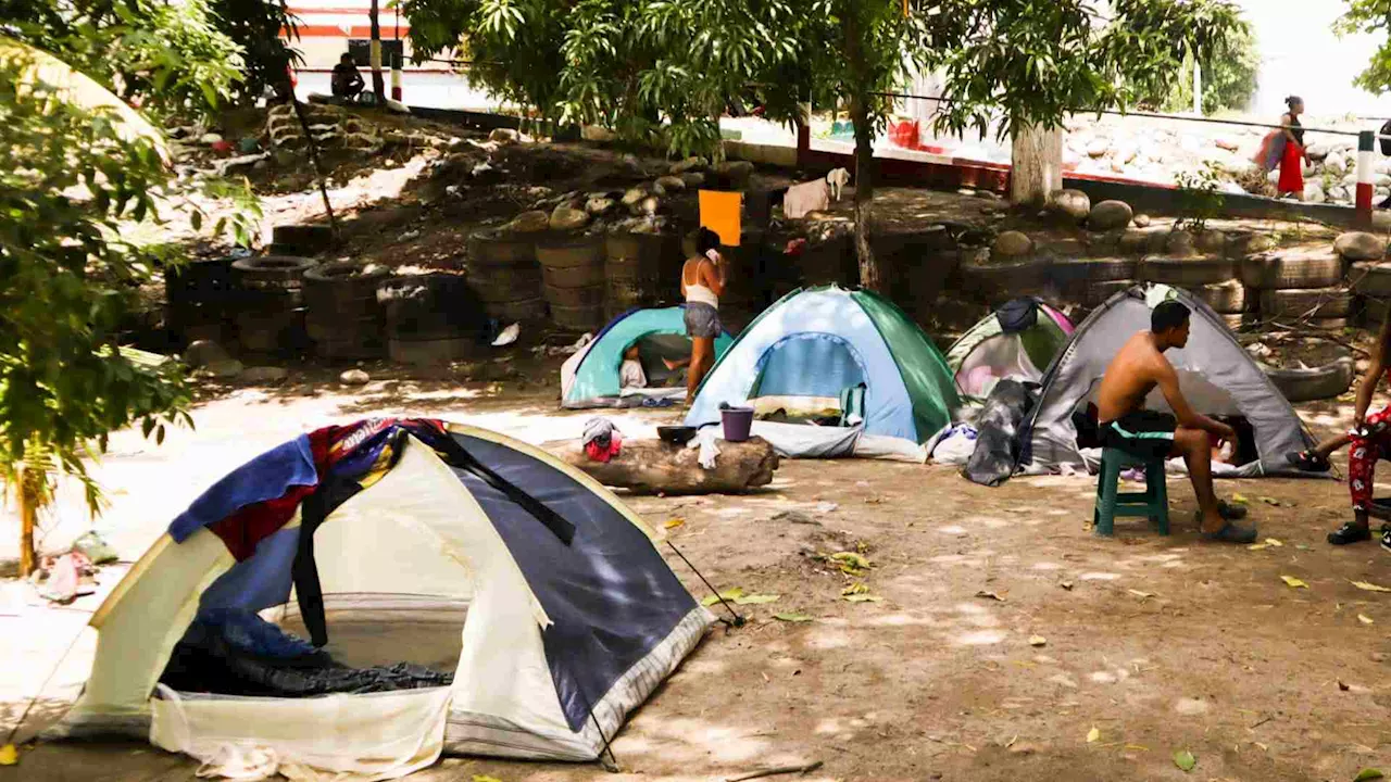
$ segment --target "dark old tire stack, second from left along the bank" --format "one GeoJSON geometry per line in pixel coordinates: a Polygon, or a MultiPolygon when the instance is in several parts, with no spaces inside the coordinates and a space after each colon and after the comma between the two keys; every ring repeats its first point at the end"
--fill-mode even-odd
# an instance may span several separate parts
{"type": "Polygon", "coordinates": [[[236,338],[250,353],[292,356],[307,346],[305,273],[307,257],[266,255],[232,263],[236,282],[236,338]]]}

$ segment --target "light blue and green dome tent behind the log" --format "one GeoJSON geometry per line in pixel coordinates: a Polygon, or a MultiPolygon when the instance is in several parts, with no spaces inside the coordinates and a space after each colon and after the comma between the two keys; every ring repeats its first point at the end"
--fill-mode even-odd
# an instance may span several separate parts
{"type": "Polygon", "coordinates": [[[958,399],[942,353],[903,310],[832,285],[764,310],[705,377],[687,426],[719,422],[723,404],[772,419],[754,433],[789,456],[869,455],[892,438],[917,458],[958,399]]]}

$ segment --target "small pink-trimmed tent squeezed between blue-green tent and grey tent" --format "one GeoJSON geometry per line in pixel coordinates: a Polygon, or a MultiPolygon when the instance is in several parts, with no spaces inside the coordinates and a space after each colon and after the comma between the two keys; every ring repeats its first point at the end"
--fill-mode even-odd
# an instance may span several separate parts
{"type": "Polygon", "coordinates": [[[947,351],[957,392],[974,401],[1006,377],[1038,381],[1067,345],[1072,323],[1039,299],[1014,299],[988,314],[947,351]]]}

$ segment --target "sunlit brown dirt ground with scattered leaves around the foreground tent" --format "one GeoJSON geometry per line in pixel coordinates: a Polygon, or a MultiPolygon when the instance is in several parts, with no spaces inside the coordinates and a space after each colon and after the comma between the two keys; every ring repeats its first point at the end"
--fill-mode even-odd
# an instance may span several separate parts
{"type": "MultiPolygon", "coordinates": [[[[534,442],[579,433],[587,413],[556,413],[554,381],[516,387],[398,377],[352,391],[296,372],[278,388],[216,390],[195,412],[196,431],[159,448],[136,433],[113,438],[97,468],[113,502],[99,529],[134,559],[220,474],[328,422],[403,412],[534,442]]],[[[1351,406],[1302,415],[1323,434],[1346,426],[1351,406]]],[[[641,437],[672,417],[618,420],[641,437]]],[[[985,488],[946,466],[783,462],[751,495],[629,498],[719,589],[780,597],[737,607],[748,625],[716,626],[633,715],[613,743],[619,775],[463,758],[413,778],[712,781],[819,760],[803,779],[1351,781],[1391,765],[1391,594],[1351,583],[1391,586],[1391,555],[1324,543],[1346,513],[1345,484],[1223,483],[1223,495],[1249,500],[1263,538],[1280,541],[1256,551],[1200,543],[1192,491],[1182,479],[1170,491],[1171,537],[1127,523],[1113,540],[1085,529],[1093,481],[1084,477],[985,488]],[[672,519],[684,523],[668,530],[672,519]],[[872,565],[861,580],[878,601],[844,601],[853,579],[818,558],[855,550],[872,565]],[[1178,750],[1198,758],[1191,775],[1175,767],[1178,750]]],[[[64,513],[57,527],[85,529],[64,513]]],[[[0,534],[13,540],[8,525],[0,534]]],[[[3,583],[0,726],[35,694],[24,735],[61,714],[90,639],[39,687],[122,570],[106,569],[99,594],[67,608],[3,583]]],[[[145,744],[42,744],[0,779],[175,782],[195,769],[145,744]]]]}

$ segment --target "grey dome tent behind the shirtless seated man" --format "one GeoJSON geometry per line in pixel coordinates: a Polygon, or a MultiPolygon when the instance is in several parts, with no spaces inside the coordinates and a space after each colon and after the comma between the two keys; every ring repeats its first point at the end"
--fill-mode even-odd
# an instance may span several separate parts
{"type": "MultiPolygon", "coordinates": [[[[1251,461],[1213,465],[1213,474],[1257,477],[1305,476],[1288,454],[1314,441],[1266,373],[1242,349],[1221,316],[1188,291],[1168,285],[1136,285],[1113,295],[1077,331],[1043,376],[1038,404],[1020,427],[1020,472],[1056,473],[1064,466],[1095,469],[1088,454],[1088,405],[1111,359],[1136,331],[1149,328],[1150,310],[1177,299],[1192,310],[1188,346],[1164,353],[1178,372],[1184,397],[1199,413],[1245,419],[1242,449],[1251,461]]],[[[1145,408],[1170,412],[1156,388],[1145,408]]],[[[1091,422],[1091,423],[1095,423],[1091,422]]],[[[1099,452],[1097,452],[1099,454],[1099,452]]]]}

